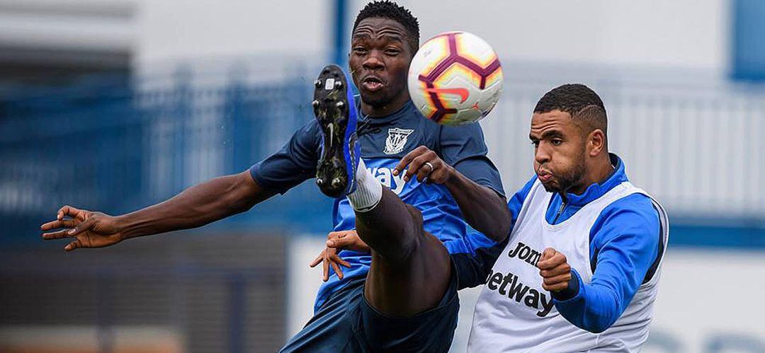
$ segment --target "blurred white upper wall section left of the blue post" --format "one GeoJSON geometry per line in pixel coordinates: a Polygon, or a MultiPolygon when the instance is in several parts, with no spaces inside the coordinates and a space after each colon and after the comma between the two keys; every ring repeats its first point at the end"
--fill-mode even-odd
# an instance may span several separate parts
{"type": "Polygon", "coordinates": [[[143,0],[136,64],[327,47],[329,1],[143,0]]]}

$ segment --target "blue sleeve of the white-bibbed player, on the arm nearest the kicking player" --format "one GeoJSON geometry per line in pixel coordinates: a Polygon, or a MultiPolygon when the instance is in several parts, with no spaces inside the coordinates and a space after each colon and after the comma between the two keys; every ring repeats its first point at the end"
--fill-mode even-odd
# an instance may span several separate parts
{"type": "MultiPolygon", "coordinates": [[[[513,226],[516,224],[516,220],[518,220],[523,201],[526,200],[526,196],[529,196],[529,192],[531,191],[531,187],[534,185],[535,180],[536,176],[532,177],[532,179],[529,180],[529,182],[517,193],[513,194],[513,197],[507,202],[507,207],[510,209],[510,214],[513,216],[510,225],[511,232],[513,226]]],[[[494,262],[497,257],[500,257],[500,254],[502,254],[510,237],[508,236],[505,238],[505,241],[500,243],[490,241],[489,238],[485,239],[489,244],[487,244],[486,247],[476,248],[473,254],[451,254],[454,265],[457,267],[457,289],[461,290],[463,288],[476,287],[486,283],[489,272],[494,266],[494,262]]],[[[448,244],[445,245],[448,247],[448,244]]]]}

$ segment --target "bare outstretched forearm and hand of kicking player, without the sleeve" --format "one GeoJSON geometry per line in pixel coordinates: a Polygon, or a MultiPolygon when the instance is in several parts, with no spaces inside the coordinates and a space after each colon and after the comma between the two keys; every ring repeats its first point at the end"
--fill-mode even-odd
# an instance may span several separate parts
{"type": "Polygon", "coordinates": [[[44,239],[73,238],[64,249],[101,248],[126,238],[196,228],[245,212],[273,196],[249,170],[191,186],[167,201],[125,215],[111,216],[63,206],[57,219],[41,226],[44,239]],[[67,216],[69,218],[67,218],[67,216]]]}

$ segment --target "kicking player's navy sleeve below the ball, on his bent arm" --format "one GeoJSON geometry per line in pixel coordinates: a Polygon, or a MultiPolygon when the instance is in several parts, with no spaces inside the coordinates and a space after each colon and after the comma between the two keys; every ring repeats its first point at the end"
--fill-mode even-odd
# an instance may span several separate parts
{"type": "Polygon", "coordinates": [[[500,172],[487,157],[489,149],[483,141],[480,125],[441,126],[439,151],[444,162],[467,179],[487,186],[500,195],[505,194],[500,172]]]}

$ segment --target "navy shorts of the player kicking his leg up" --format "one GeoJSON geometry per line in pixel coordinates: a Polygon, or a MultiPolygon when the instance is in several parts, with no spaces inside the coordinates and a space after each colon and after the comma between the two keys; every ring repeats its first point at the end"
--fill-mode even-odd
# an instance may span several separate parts
{"type": "Polygon", "coordinates": [[[334,293],[282,352],[427,351],[445,352],[457,328],[457,274],[433,309],[411,317],[385,316],[364,298],[366,278],[350,280],[334,293]]]}

